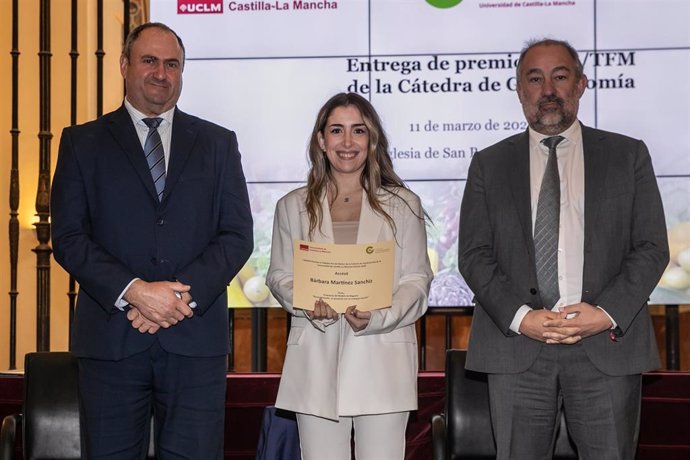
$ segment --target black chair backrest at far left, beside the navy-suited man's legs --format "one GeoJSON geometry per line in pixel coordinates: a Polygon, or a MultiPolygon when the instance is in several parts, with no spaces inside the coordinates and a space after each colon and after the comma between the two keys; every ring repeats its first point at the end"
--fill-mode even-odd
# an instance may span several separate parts
{"type": "Polygon", "coordinates": [[[26,355],[22,417],[26,460],[81,458],[77,372],[71,353],[26,355]]]}

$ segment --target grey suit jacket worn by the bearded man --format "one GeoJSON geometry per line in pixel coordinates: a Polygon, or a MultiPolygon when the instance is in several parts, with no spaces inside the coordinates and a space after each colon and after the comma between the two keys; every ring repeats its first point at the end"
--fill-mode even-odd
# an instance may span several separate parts
{"type": "MultiPolygon", "coordinates": [[[[647,300],[668,263],[663,207],[642,141],[582,127],[585,241],[582,301],[618,324],[582,340],[608,375],[659,367],[647,300]]],[[[477,153],[460,212],[459,268],[475,294],[467,368],[516,373],[541,342],[509,329],[517,309],[539,308],[530,209],[529,135],[523,132],[477,153]]]]}

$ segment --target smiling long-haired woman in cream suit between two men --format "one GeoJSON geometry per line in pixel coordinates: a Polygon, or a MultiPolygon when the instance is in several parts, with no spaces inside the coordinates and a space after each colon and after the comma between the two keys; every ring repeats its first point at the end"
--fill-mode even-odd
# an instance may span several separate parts
{"type": "MultiPolygon", "coordinates": [[[[304,459],[349,460],[353,425],[358,459],[403,458],[408,413],[417,408],[414,323],[427,309],[433,277],[427,256],[425,213],[417,195],[404,188],[399,179],[394,182],[399,186],[380,186],[369,191],[362,187],[365,190],[361,191],[359,207],[351,214],[359,219],[356,240],[352,242],[395,242],[392,305],[371,312],[355,309],[322,317],[316,309],[307,312],[295,308],[293,241],[337,243],[335,220],[342,219],[333,216],[343,215],[337,198],[342,198],[343,207],[356,201],[348,198],[348,188],[360,183],[361,177],[372,169],[379,169],[372,168],[371,162],[383,164],[381,174],[392,173],[378,116],[369,102],[356,94],[339,94],[326,103],[317,118],[311,145],[316,148],[310,148],[312,171],[307,187],[281,198],[275,212],[267,285],[292,315],[276,406],[297,413],[304,459]],[[347,116],[337,118],[343,113],[347,115],[344,107],[354,114],[353,123],[347,116]],[[348,169],[348,162],[358,152],[356,146],[352,147],[357,141],[348,144],[346,140],[343,148],[332,139],[346,136],[344,132],[350,128],[356,137],[361,134],[357,133],[357,126],[362,125],[367,141],[363,145],[369,144],[370,148],[357,153],[366,157],[364,166],[348,169]],[[331,126],[336,128],[327,132],[331,126]],[[341,154],[341,158],[331,156],[336,154],[341,154]],[[347,161],[341,161],[343,158],[347,161]],[[320,224],[310,230],[307,202],[310,190],[318,182],[314,170],[324,159],[328,159],[326,169],[330,168],[325,173],[327,185],[322,193],[313,195],[315,207],[321,212],[320,224]],[[358,180],[348,182],[345,173],[356,174],[358,180]],[[336,191],[329,188],[330,182],[337,182],[336,191]],[[383,213],[373,208],[376,204],[383,213]]],[[[375,181],[376,177],[368,180],[375,181]]],[[[361,179],[361,183],[366,181],[361,179]]]]}

